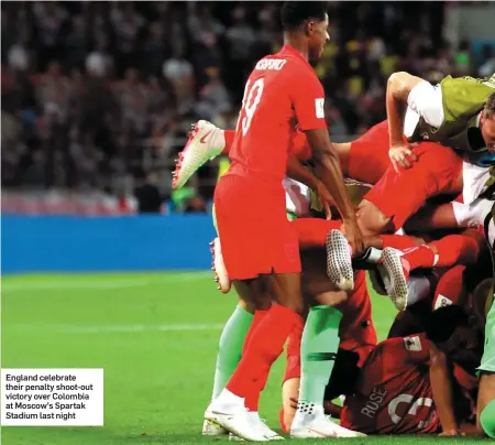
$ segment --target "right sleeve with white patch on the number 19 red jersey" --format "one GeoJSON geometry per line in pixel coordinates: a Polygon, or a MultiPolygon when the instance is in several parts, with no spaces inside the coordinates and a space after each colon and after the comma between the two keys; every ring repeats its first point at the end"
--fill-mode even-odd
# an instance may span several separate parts
{"type": "MultiPolygon", "coordinates": [[[[300,67],[298,67],[299,70],[300,67]]],[[[290,83],[292,101],[296,111],[296,118],[302,131],[327,128],[324,120],[324,91],[315,73],[305,70],[294,76],[290,83]]]]}

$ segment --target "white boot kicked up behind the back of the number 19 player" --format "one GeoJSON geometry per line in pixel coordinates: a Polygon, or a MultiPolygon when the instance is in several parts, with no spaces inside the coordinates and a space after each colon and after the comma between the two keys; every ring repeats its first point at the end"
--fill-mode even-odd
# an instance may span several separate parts
{"type": "Polygon", "coordinates": [[[217,158],[224,149],[222,130],[206,120],[193,127],[184,150],[178,154],[172,187],[180,188],[205,162],[217,158]]]}

